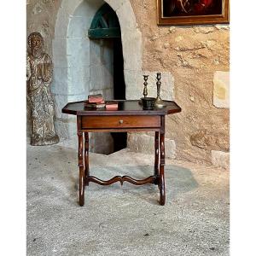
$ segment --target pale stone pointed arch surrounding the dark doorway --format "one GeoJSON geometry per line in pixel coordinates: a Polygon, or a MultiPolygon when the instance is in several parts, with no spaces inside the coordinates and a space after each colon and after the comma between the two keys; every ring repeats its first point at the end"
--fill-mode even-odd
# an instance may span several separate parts
{"type": "MultiPolygon", "coordinates": [[[[90,92],[101,91],[102,84],[106,89],[102,91],[103,96],[108,99],[113,94],[111,91],[112,67],[108,64],[107,68],[101,67],[101,63],[104,64],[111,58],[111,49],[108,45],[102,47],[98,43],[97,45],[91,43],[88,37],[91,22],[104,3],[108,3],[119,18],[126,99],[137,99],[142,94],[143,85],[137,86],[137,77],[142,73],[142,34],[137,28],[130,1],[62,0],[55,22],[55,38],[53,39],[52,93],[55,96],[56,131],[61,138],[69,139],[68,145],[73,145],[74,148],[77,147],[76,119],[62,114],[61,108],[67,102],[86,99],[90,92]],[[96,55],[100,56],[98,59],[101,63],[97,63],[96,55]],[[98,65],[97,68],[92,68],[96,65],[98,65]],[[104,79],[97,80],[95,83],[95,78],[99,76],[99,73],[103,73],[104,79]]],[[[102,41],[100,44],[106,43],[102,41]]],[[[108,140],[108,138],[105,139],[108,140]]]]}

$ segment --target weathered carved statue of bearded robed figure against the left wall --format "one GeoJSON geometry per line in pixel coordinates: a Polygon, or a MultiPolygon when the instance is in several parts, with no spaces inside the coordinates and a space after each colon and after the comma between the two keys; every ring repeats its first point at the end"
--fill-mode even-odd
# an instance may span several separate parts
{"type": "Polygon", "coordinates": [[[49,89],[53,66],[50,56],[43,51],[44,39],[39,32],[28,37],[31,49],[26,58],[27,98],[31,108],[33,146],[59,142],[54,126],[54,102],[49,89]]]}

